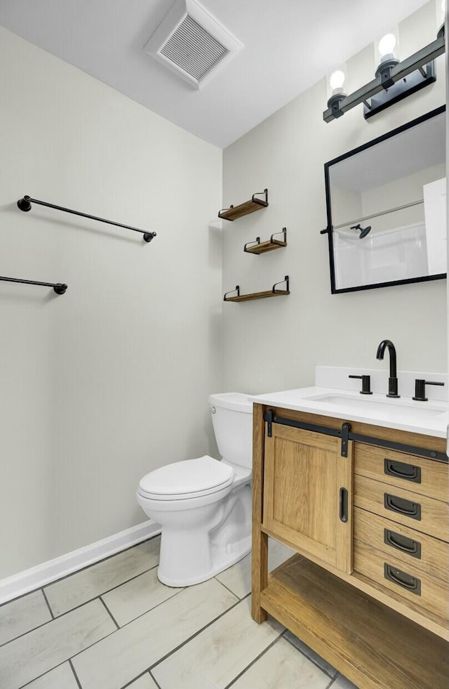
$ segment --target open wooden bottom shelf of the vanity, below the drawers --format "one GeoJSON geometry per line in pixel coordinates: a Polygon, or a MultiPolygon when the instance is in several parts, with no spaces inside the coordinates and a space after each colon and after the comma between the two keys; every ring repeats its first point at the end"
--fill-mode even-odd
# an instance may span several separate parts
{"type": "Polygon", "coordinates": [[[268,577],[262,608],[363,689],[445,689],[448,643],[302,556],[268,577]]]}

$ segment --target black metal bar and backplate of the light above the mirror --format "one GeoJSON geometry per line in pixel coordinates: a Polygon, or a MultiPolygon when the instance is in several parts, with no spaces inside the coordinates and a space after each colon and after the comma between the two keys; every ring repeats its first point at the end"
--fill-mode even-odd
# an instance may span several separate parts
{"type": "Polygon", "coordinates": [[[410,93],[414,93],[419,88],[423,88],[432,81],[435,81],[436,77],[434,75],[433,60],[437,58],[438,55],[443,55],[444,52],[445,39],[443,35],[438,37],[435,41],[432,41],[428,46],[421,48],[417,53],[410,55],[406,60],[402,60],[402,62],[391,67],[388,86],[382,85],[382,74],[379,74],[373,81],[369,81],[365,86],[361,86],[361,88],[358,88],[354,93],[350,93],[349,96],[344,96],[337,104],[337,107],[328,107],[328,109],[323,112],[323,120],[325,122],[332,122],[333,119],[341,117],[344,112],[351,110],[353,107],[356,107],[356,105],[360,105],[360,103],[365,103],[366,105],[365,117],[372,117],[373,114],[383,110],[384,107],[396,103],[397,100],[406,98],[410,93]],[[423,70],[423,68],[425,69],[423,70]],[[391,84],[395,85],[398,81],[406,80],[409,74],[417,71],[421,74],[419,82],[411,84],[410,88],[408,88],[409,85],[407,83],[404,84],[404,88],[400,94],[392,96],[391,100],[387,100],[381,105],[375,105],[375,107],[373,107],[369,103],[369,100],[376,96],[377,93],[381,93],[382,91],[387,93],[387,89],[391,88],[391,84]],[[423,71],[425,76],[422,73],[423,71]]]}

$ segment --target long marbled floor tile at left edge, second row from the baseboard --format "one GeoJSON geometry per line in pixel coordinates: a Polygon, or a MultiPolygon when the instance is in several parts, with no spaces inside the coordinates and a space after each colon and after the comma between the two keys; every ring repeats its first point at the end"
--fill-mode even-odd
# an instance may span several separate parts
{"type": "Polygon", "coordinates": [[[29,631],[0,648],[1,689],[19,689],[115,630],[97,600],[29,631]]]}

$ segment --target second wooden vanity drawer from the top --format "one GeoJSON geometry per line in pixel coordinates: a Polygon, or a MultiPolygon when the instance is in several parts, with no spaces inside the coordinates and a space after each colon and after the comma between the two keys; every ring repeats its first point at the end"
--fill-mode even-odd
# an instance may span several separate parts
{"type": "Polygon", "coordinates": [[[441,500],[355,474],[354,506],[449,541],[449,505],[441,500]]]}

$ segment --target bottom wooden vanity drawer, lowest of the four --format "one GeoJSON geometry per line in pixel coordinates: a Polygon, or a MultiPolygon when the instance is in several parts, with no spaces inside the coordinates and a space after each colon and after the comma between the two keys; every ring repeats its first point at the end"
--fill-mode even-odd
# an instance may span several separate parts
{"type": "Polygon", "coordinates": [[[413,605],[448,619],[448,587],[441,579],[429,577],[412,564],[404,565],[396,560],[394,553],[386,557],[382,551],[354,541],[353,567],[354,572],[381,584],[413,605]]]}

